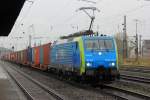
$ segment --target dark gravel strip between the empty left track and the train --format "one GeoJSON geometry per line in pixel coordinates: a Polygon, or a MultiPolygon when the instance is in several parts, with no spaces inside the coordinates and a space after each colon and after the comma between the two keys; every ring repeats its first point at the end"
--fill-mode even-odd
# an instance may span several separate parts
{"type": "Polygon", "coordinates": [[[79,86],[77,83],[75,83],[76,85],[73,83],[69,83],[69,80],[61,79],[55,76],[54,74],[51,75],[50,73],[46,73],[30,67],[20,68],[17,65],[15,66],[15,64],[12,65],[7,64],[7,66],[13,67],[15,69],[20,69],[20,71],[22,72],[26,72],[32,78],[42,82],[46,86],[51,87],[51,84],[53,84],[54,81],[55,84],[53,84],[52,88],[56,90],[58,93],[64,95],[67,98],[65,100],[116,100],[116,98],[117,100],[124,100],[124,99],[120,99],[119,97],[114,97],[100,91],[95,91],[93,88],[91,87],[89,88],[89,86],[87,85],[83,86],[83,84],[80,84],[79,86]],[[46,83],[45,83],[45,79],[46,79],[46,83]],[[61,82],[57,82],[57,81],[61,81],[61,82]]]}

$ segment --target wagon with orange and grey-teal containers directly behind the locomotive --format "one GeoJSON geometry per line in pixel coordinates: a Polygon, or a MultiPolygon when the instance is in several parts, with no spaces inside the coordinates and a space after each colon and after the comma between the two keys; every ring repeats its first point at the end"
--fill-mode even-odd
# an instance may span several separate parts
{"type": "Polygon", "coordinates": [[[29,64],[40,70],[48,70],[48,65],[50,63],[50,46],[51,43],[48,43],[38,47],[29,48],[27,54],[29,64]]]}

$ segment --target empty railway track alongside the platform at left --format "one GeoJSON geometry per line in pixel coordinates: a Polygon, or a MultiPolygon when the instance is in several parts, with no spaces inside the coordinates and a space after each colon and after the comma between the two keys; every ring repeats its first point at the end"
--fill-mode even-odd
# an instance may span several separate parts
{"type": "Polygon", "coordinates": [[[29,75],[14,68],[7,67],[4,69],[21,88],[28,100],[66,100],[63,96],[32,79],[29,75]]]}

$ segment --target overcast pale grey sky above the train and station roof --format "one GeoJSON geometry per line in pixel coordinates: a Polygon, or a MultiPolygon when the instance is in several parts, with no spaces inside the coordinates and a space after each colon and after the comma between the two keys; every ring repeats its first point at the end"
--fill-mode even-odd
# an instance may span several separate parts
{"type": "MultiPolygon", "coordinates": [[[[76,10],[80,7],[96,6],[100,12],[96,12],[94,31],[108,35],[122,31],[123,16],[126,15],[128,35],[135,35],[134,19],[138,19],[138,34],[150,39],[150,1],[90,1],[97,3],[86,3],[82,0],[34,0],[32,4],[26,1],[9,37],[24,37],[11,39],[18,48],[21,48],[20,46],[25,47],[28,44],[29,34],[32,37],[43,37],[42,43],[45,43],[56,40],[60,35],[88,29],[89,17],[82,11],[76,12],[76,10]]],[[[32,44],[34,42],[39,43],[40,40],[33,39],[32,44]]]]}

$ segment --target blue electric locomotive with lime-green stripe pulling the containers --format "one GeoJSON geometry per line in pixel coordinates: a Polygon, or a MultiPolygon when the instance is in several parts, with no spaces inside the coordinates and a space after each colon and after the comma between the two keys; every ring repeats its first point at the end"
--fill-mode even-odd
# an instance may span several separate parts
{"type": "Polygon", "coordinates": [[[116,42],[111,36],[80,36],[56,42],[51,65],[61,73],[98,80],[119,77],[116,42]]]}

